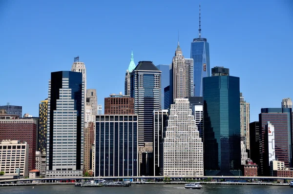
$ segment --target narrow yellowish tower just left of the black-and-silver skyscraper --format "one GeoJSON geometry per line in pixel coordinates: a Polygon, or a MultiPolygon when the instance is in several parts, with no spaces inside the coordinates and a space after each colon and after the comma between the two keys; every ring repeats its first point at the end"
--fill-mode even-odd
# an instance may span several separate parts
{"type": "Polygon", "coordinates": [[[47,115],[48,99],[45,99],[39,104],[38,151],[40,152],[47,150],[47,115]]]}

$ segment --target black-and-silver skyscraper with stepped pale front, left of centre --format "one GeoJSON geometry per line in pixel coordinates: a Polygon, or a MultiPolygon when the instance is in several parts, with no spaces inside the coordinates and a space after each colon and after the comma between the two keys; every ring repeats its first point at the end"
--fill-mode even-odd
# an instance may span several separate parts
{"type": "Polygon", "coordinates": [[[83,175],[84,94],[82,73],[51,73],[46,177],[83,175]]]}

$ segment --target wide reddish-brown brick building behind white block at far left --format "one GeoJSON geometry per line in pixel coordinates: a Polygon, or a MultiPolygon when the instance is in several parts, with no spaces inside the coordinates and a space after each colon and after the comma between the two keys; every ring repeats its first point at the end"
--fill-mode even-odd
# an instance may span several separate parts
{"type": "Polygon", "coordinates": [[[12,115],[0,115],[0,140],[20,140],[27,142],[28,171],[36,167],[38,118],[19,118],[12,115]]]}

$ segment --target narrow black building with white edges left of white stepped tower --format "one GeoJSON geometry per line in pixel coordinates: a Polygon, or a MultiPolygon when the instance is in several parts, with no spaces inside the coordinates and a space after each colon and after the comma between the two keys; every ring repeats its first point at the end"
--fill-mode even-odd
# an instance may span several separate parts
{"type": "Polygon", "coordinates": [[[160,141],[163,138],[163,131],[166,127],[168,110],[153,111],[153,126],[154,126],[154,142],[153,142],[153,173],[154,176],[160,175],[160,141]]]}

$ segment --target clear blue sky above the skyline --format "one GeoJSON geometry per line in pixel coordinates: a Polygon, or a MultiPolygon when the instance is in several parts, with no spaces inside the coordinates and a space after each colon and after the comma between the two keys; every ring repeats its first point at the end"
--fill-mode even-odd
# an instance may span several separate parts
{"type": "MultiPolygon", "coordinates": [[[[198,36],[199,0],[0,0],[0,104],[38,116],[50,72],[86,65],[87,88],[98,103],[124,92],[131,49],[137,64],[169,64],[180,31],[183,54],[198,36]]],[[[230,68],[251,103],[261,107],[293,98],[293,1],[202,0],[202,37],[210,64],[230,68]]]]}

